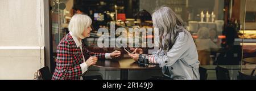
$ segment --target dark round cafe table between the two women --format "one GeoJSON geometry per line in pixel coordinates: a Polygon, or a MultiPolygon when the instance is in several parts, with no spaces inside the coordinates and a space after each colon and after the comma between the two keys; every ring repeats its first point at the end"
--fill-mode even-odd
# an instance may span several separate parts
{"type": "Polygon", "coordinates": [[[143,70],[148,68],[154,68],[158,66],[158,64],[149,64],[148,66],[140,66],[138,62],[135,62],[130,58],[122,58],[122,59],[99,59],[96,64],[93,64],[96,67],[102,68],[113,68],[119,69],[120,79],[128,80],[128,70],[143,70]]]}

